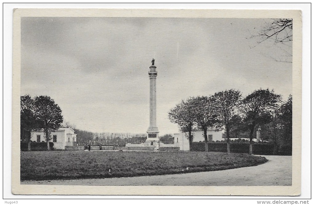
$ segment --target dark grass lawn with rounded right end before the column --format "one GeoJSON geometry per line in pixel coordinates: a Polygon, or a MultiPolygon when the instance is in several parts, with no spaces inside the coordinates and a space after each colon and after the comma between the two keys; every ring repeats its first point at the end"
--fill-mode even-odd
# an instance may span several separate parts
{"type": "Polygon", "coordinates": [[[21,152],[21,180],[164,175],[234,169],[265,162],[265,157],[219,152],[31,151],[21,152]]]}

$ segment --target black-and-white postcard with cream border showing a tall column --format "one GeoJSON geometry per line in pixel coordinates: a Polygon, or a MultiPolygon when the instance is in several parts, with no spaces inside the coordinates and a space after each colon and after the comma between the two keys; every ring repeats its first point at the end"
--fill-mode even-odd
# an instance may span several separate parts
{"type": "Polygon", "coordinates": [[[14,11],[14,194],[300,194],[299,11],[69,10],[14,11]]]}

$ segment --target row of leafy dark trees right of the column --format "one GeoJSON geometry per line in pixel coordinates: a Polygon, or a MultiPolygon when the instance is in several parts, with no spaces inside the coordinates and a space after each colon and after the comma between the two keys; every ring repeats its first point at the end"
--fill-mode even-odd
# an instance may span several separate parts
{"type": "Polygon", "coordinates": [[[207,129],[223,128],[230,152],[230,138],[249,138],[250,154],[257,128],[261,139],[269,140],[278,150],[280,143],[292,144],[292,95],[282,102],[273,90],[258,89],[242,98],[240,91],[230,89],[210,96],[181,100],[168,113],[171,122],[187,132],[190,146],[195,127],[203,130],[205,151],[208,151],[207,129]]]}

